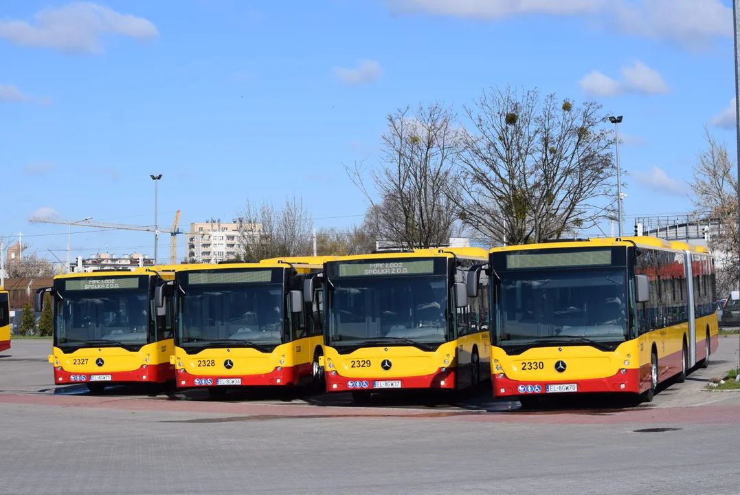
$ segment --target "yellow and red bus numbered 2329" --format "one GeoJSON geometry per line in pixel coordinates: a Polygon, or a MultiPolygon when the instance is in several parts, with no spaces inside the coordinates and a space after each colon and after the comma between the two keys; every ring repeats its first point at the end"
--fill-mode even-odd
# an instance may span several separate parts
{"type": "Polygon", "coordinates": [[[324,264],[326,390],[460,389],[488,379],[488,284],[465,279],[488,252],[415,249],[324,264]],[[483,374],[482,374],[483,371],[483,374]]]}

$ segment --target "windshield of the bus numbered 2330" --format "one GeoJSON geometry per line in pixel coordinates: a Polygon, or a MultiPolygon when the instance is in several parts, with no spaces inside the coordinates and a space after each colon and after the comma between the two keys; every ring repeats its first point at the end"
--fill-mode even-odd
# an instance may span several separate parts
{"type": "Polygon", "coordinates": [[[499,277],[501,347],[628,338],[625,269],[517,270],[499,277]]]}

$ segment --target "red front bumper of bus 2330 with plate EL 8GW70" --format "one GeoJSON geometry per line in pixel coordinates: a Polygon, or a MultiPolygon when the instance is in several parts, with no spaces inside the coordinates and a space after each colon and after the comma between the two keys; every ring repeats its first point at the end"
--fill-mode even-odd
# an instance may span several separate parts
{"type": "Polygon", "coordinates": [[[557,393],[639,393],[639,368],[626,368],[625,373],[617,371],[611,377],[588,378],[581,380],[511,380],[493,375],[494,397],[520,397],[527,395],[552,395],[557,393]],[[575,390],[573,390],[573,385],[575,390]]]}

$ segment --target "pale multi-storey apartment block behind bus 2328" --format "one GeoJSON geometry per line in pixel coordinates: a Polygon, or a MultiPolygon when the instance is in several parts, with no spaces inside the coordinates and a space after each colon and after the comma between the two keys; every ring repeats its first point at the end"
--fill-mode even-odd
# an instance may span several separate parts
{"type": "MultiPolygon", "coordinates": [[[[251,232],[260,226],[252,226],[251,232]]],[[[221,218],[191,223],[190,232],[203,232],[202,235],[191,235],[188,238],[187,259],[191,263],[218,263],[233,260],[239,252],[239,236],[245,228],[239,218],[232,223],[222,223],[221,218]]]]}

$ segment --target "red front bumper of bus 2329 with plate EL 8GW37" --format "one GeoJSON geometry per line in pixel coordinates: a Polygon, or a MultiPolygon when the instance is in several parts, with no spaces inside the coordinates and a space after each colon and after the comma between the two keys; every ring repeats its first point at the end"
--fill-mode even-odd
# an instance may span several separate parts
{"type": "Polygon", "coordinates": [[[455,388],[455,368],[439,368],[437,372],[416,377],[343,377],[335,370],[326,370],[326,391],[394,390],[397,388],[455,388]]]}

